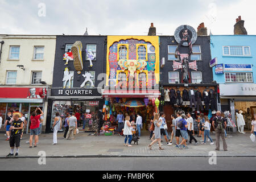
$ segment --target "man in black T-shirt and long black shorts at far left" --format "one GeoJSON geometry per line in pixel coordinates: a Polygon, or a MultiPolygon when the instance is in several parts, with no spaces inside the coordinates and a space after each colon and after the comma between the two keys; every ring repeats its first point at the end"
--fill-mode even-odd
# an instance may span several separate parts
{"type": "Polygon", "coordinates": [[[22,129],[24,126],[23,121],[21,121],[19,119],[19,114],[14,114],[13,116],[13,123],[11,123],[10,126],[10,147],[11,147],[11,152],[7,155],[7,157],[9,156],[13,156],[14,154],[14,146],[16,146],[16,154],[15,157],[18,157],[18,153],[19,153],[19,146],[20,146],[20,135],[22,134],[22,129]]]}

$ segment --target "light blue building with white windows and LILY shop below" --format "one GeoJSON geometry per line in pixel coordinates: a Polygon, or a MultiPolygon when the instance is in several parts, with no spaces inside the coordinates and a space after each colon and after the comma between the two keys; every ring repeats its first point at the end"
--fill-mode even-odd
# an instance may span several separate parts
{"type": "Polygon", "coordinates": [[[229,110],[236,121],[242,110],[245,129],[256,114],[256,35],[211,35],[213,80],[219,84],[222,111],[229,110]],[[214,64],[215,62],[215,64],[214,64]]]}

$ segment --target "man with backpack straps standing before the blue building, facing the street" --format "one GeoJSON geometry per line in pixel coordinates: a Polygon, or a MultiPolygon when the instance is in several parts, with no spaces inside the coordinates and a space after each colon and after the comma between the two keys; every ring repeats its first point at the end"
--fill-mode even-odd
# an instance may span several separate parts
{"type": "Polygon", "coordinates": [[[225,133],[226,129],[226,121],[223,117],[221,117],[221,111],[217,111],[216,117],[213,118],[212,122],[213,129],[216,131],[216,148],[215,150],[220,150],[220,135],[223,142],[224,151],[228,151],[228,146],[226,145],[225,133]]]}

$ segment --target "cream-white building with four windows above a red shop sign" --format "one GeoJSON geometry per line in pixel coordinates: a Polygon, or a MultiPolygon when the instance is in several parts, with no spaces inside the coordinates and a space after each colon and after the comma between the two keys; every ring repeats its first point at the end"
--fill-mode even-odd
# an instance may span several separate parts
{"type": "MultiPolygon", "coordinates": [[[[9,111],[30,118],[36,107],[43,110],[42,130],[47,115],[47,91],[52,85],[56,36],[0,35],[0,116],[9,111]]],[[[39,112],[38,112],[39,114],[39,112]]],[[[30,119],[28,119],[30,120],[30,119]]],[[[4,131],[4,127],[1,131],[4,131]]],[[[26,128],[29,131],[29,125],[26,128]]]]}

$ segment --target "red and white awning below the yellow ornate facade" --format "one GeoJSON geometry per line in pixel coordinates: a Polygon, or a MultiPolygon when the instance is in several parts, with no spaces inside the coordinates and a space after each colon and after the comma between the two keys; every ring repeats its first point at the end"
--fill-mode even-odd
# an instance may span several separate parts
{"type": "Polygon", "coordinates": [[[104,90],[103,97],[144,98],[159,97],[159,90],[104,90]]]}

